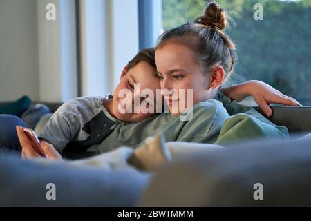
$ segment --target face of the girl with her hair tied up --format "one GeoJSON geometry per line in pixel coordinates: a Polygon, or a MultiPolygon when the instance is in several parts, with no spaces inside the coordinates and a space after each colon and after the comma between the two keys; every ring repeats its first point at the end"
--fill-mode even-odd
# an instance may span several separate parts
{"type": "Polygon", "coordinates": [[[162,94],[172,115],[180,115],[192,105],[207,99],[209,74],[202,70],[187,46],[167,42],[156,50],[156,66],[162,94]],[[176,90],[167,93],[173,88],[176,90]],[[193,96],[187,89],[192,90],[193,96]],[[192,99],[192,104],[189,99],[192,99]]]}

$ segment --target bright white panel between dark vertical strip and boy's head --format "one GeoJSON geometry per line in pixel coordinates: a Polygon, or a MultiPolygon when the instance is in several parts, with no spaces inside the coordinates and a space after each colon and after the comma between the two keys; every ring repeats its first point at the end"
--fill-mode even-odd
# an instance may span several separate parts
{"type": "Polygon", "coordinates": [[[82,95],[105,96],[139,50],[138,1],[80,0],[79,10],[82,95]]]}

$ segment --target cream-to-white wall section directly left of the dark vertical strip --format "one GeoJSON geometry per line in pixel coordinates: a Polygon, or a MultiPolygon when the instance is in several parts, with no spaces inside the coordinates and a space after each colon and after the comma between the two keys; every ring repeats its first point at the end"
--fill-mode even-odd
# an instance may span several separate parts
{"type": "Polygon", "coordinates": [[[37,0],[37,22],[39,99],[66,102],[77,97],[75,1],[37,0]],[[48,3],[56,6],[55,21],[46,19],[48,3]]]}

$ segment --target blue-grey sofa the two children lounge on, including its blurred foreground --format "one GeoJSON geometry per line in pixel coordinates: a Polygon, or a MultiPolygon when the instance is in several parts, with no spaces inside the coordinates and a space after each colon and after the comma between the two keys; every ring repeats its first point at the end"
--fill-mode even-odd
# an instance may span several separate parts
{"type": "MultiPolygon", "coordinates": [[[[45,105],[52,112],[60,104],[45,105]]],[[[47,166],[0,155],[0,206],[311,206],[311,107],[272,109],[270,120],[287,126],[290,138],[225,148],[169,142],[173,160],[162,156],[166,160],[147,171],[128,160],[121,166],[110,161],[103,167],[96,160],[47,166]],[[172,148],[182,154],[176,157],[172,148]],[[57,186],[57,200],[46,200],[48,183],[57,186]],[[263,188],[262,199],[255,196],[256,184],[263,188]]],[[[109,160],[127,159],[131,152],[119,148],[108,154],[109,160]]]]}

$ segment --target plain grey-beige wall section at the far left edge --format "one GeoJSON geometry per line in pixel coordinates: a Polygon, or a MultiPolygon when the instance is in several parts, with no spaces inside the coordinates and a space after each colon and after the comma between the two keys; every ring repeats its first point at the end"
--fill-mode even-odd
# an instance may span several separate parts
{"type": "Polygon", "coordinates": [[[0,101],[39,99],[35,0],[0,0],[0,101]]]}

